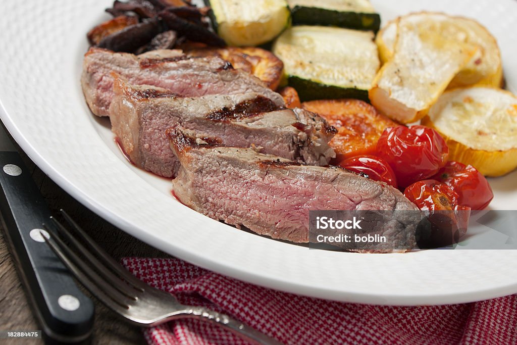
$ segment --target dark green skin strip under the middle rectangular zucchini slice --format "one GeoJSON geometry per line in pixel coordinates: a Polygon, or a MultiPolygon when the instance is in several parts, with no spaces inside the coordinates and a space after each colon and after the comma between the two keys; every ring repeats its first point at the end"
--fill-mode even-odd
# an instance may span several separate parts
{"type": "Polygon", "coordinates": [[[302,102],[316,99],[354,98],[370,103],[368,90],[325,85],[296,76],[289,76],[288,84],[296,89],[302,102]]]}

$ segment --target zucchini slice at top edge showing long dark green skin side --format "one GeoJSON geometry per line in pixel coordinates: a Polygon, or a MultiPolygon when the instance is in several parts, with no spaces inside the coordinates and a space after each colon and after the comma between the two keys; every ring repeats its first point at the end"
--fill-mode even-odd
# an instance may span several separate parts
{"type": "Polygon", "coordinates": [[[293,25],[329,25],[377,32],[381,16],[369,0],[287,0],[293,25]]]}

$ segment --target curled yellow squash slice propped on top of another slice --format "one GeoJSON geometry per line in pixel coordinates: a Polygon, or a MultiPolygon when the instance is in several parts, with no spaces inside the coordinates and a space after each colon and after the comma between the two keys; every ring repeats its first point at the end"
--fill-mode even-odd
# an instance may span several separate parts
{"type": "Polygon", "coordinates": [[[398,27],[393,57],[377,73],[369,97],[379,111],[408,124],[427,113],[477,47],[407,20],[398,27]]]}

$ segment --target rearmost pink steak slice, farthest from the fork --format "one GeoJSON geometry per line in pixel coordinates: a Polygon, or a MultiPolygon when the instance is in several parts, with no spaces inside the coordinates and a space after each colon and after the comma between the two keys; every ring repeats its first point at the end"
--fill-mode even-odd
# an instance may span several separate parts
{"type": "Polygon", "coordinates": [[[109,115],[113,72],[131,84],[159,86],[186,97],[256,92],[282,100],[258,78],[234,69],[217,56],[188,57],[181,50],[134,55],[90,48],[84,56],[81,85],[86,102],[95,115],[109,115]]]}

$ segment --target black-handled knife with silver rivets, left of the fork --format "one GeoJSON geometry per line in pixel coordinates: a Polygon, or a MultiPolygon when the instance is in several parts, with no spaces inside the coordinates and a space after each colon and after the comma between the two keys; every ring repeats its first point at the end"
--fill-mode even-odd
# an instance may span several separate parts
{"type": "Polygon", "coordinates": [[[5,128],[0,128],[0,213],[5,238],[45,343],[89,343],[94,304],[42,236],[50,209],[5,128]]]}

